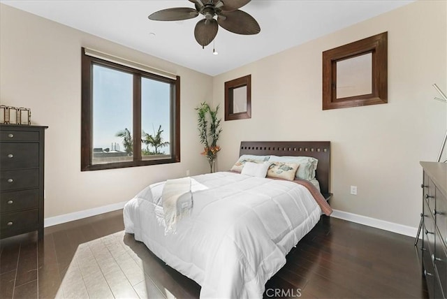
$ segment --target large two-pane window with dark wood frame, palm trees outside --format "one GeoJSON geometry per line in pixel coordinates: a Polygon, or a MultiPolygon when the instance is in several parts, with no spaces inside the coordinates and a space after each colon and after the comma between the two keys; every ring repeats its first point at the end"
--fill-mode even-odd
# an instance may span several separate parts
{"type": "Polygon", "coordinates": [[[179,162],[179,76],[91,53],[82,48],[81,170],[179,162]]]}

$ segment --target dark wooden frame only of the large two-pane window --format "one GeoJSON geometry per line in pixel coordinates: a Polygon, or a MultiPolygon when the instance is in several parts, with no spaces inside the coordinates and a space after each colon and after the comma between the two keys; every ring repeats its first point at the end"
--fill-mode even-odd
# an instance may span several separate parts
{"type": "Polygon", "coordinates": [[[155,164],[177,163],[180,161],[180,77],[166,78],[136,68],[117,64],[97,57],[89,56],[82,48],[81,82],[81,171],[127,168],[155,164]],[[133,161],[93,164],[93,66],[101,65],[133,75],[133,161]],[[143,160],[141,155],[141,78],[149,78],[170,83],[170,158],[143,160]]]}

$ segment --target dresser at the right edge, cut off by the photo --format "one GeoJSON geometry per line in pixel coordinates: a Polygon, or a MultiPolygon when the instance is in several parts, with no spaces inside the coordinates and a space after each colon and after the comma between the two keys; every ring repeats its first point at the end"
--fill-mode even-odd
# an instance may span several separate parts
{"type": "Polygon", "coordinates": [[[447,298],[447,163],[420,162],[423,177],[423,274],[430,298],[447,298]]]}

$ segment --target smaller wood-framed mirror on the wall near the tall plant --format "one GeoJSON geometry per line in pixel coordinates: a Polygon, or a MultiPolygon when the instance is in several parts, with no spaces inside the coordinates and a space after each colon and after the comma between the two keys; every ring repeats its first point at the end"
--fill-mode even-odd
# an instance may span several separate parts
{"type": "Polygon", "coordinates": [[[225,120],[251,118],[251,75],[225,82],[225,120]]]}

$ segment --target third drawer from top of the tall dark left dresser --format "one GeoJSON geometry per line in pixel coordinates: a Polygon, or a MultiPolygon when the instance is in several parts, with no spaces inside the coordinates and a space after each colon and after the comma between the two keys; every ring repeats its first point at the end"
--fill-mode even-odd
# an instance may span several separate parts
{"type": "Polygon", "coordinates": [[[1,191],[12,191],[25,188],[37,188],[39,185],[39,170],[2,170],[0,171],[1,191]]]}

